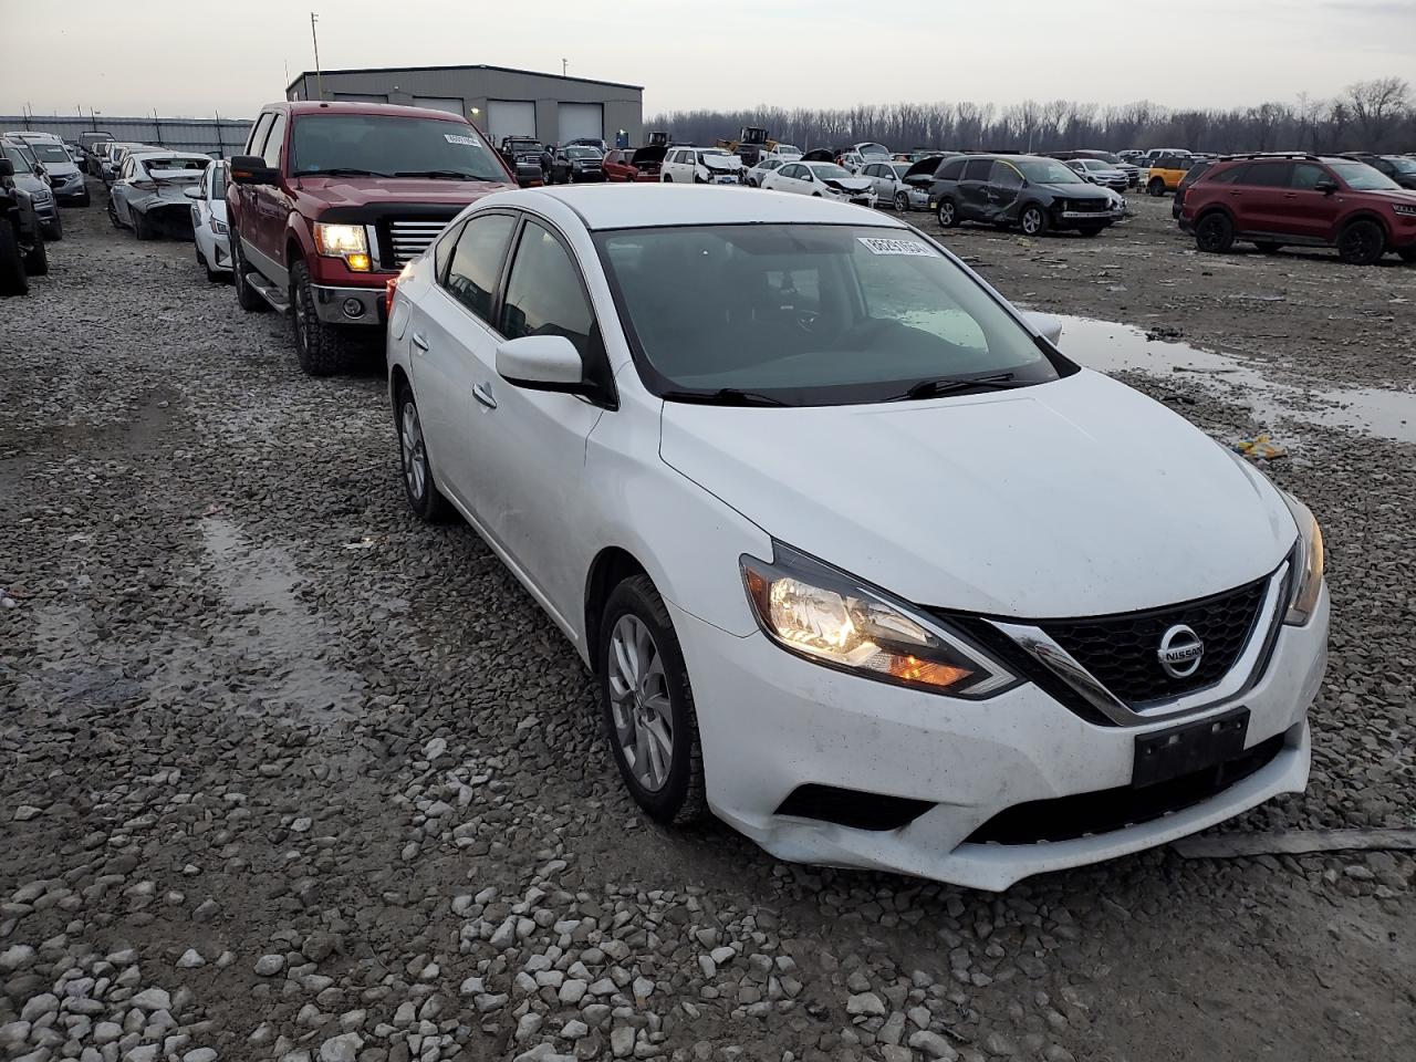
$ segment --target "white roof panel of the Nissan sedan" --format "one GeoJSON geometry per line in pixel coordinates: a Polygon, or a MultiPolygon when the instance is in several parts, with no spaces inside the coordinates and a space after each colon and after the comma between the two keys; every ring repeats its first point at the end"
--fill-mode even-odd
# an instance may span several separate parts
{"type": "Polygon", "coordinates": [[[592,229],[661,228],[668,225],[877,225],[908,228],[889,214],[845,202],[779,191],[688,187],[674,184],[555,185],[497,193],[477,205],[527,208],[561,202],[592,229]]]}

